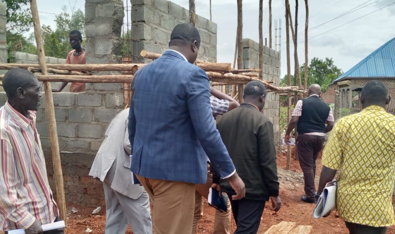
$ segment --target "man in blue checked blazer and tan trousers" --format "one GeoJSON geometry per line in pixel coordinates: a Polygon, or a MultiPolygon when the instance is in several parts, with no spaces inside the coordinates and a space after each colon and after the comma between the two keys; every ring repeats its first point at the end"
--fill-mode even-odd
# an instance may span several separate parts
{"type": "Polygon", "coordinates": [[[207,157],[237,195],[244,183],[216,129],[206,73],[193,65],[200,36],[189,24],[178,24],[169,50],[138,70],[132,81],[129,140],[131,171],[154,199],[155,234],[190,234],[195,184],[207,179],[207,157]]]}

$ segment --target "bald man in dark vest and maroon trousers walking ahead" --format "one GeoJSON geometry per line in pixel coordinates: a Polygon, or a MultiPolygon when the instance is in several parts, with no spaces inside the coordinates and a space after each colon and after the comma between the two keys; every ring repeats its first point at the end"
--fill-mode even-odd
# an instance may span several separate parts
{"type": "Polygon", "coordinates": [[[335,124],[332,108],[319,95],[321,87],[312,84],[308,98],[297,101],[292,118],[285,133],[285,143],[290,143],[292,130],[297,129],[297,155],[304,176],[304,192],[302,201],[316,203],[316,159],[325,142],[325,133],[332,130],[335,124]],[[325,125],[326,124],[326,125],[325,125]]]}

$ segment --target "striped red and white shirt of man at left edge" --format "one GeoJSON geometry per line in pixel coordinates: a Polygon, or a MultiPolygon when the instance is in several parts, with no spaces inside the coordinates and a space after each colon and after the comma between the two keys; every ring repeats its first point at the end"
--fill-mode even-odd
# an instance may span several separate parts
{"type": "Polygon", "coordinates": [[[36,112],[30,118],[8,101],[0,108],[0,230],[26,229],[36,219],[55,221],[58,207],[49,187],[36,112]]]}

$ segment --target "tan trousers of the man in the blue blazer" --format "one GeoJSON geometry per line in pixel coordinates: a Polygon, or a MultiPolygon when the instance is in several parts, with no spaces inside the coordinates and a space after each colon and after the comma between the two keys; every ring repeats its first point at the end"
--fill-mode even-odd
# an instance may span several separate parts
{"type": "Polygon", "coordinates": [[[195,184],[136,176],[154,200],[154,234],[191,233],[195,184]]]}

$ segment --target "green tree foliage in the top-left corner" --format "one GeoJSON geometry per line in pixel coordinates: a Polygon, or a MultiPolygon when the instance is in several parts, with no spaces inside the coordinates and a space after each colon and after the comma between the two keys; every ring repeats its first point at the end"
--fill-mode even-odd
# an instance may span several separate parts
{"type": "Polygon", "coordinates": [[[29,0],[0,0],[7,4],[7,31],[22,33],[33,26],[29,0]]]}

